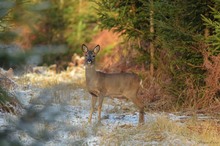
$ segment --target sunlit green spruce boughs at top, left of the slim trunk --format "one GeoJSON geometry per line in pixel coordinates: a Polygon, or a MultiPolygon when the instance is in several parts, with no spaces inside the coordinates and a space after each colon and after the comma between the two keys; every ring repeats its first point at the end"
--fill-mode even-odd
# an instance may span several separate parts
{"type": "Polygon", "coordinates": [[[128,38],[149,36],[149,5],[143,0],[101,0],[97,14],[104,29],[113,29],[128,38]]]}

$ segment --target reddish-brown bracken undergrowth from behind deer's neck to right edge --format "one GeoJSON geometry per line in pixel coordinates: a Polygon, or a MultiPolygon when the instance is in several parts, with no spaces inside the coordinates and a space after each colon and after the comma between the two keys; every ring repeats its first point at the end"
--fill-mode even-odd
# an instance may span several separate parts
{"type": "MultiPolygon", "coordinates": [[[[198,46],[200,50],[204,46],[198,46]]],[[[197,50],[199,52],[199,50],[197,50]]],[[[139,53],[121,46],[112,50],[100,64],[101,70],[133,72],[140,76],[144,88],[140,97],[147,110],[196,111],[217,113],[220,111],[220,56],[201,52],[201,64],[173,65],[166,52],[158,51],[158,62],[151,76],[148,64],[137,62],[139,53]],[[122,51],[123,50],[123,51],[122,51]]]]}

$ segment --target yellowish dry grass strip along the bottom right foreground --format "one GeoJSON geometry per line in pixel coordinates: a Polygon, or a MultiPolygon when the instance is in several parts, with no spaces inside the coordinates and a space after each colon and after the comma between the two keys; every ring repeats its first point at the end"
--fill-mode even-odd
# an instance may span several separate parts
{"type": "Polygon", "coordinates": [[[105,133],[101,145],[218,145],[220,125],[217,122],[190,120],[176,123],[166,117],[142,126],[117,127],[105,133]]]}

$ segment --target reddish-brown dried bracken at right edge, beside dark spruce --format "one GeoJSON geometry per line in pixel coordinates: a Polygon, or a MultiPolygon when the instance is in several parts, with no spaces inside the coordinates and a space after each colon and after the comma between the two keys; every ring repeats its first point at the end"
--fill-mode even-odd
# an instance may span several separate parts
{"type": "Polygon", "coordinates": [[[179,95],[183,100],[181,108],[199,113],[218,114],[220,111],[220,55],[210,56],[208,52],[202,52],[202,54],[204,58],[202,67],[206,71],[205,85],[199,85],[193,75],[187,76],[186,88],[182,91],[183,95],[179,95]]]}

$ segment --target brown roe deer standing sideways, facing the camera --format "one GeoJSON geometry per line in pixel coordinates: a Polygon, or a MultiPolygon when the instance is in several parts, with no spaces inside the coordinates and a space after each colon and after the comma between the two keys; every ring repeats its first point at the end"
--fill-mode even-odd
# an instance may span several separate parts
{"type": "Polygon", "coordinates": [[[95,70],[95,57],[100,50],[97,45],[89,50],[82,45],[85,55],[86,86],[92,95],[92,105],[88,122],[91,123],[92,114],[98,98],[98,122],[101,122],[101,109],[104,97],[127,98],[139,108],[139,123],[144,122],[144,104],[137,98],[140,79],[133,73],[104,73],[95,70]]]}

